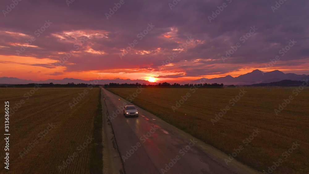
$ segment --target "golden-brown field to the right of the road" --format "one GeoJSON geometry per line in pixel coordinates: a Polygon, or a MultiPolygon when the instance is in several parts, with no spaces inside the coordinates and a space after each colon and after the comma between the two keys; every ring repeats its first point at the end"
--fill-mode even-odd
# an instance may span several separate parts
{"type": "Polygon", "coordinates": [[[226,154],[242,145],[243,150],[235,158],[260,172],[282,159],[274,173],[309,173],[308,89],[293,93],[295,88],[244,88],[244,92],[242,88],[195,92],[189,88],[145,88],[138,95],[134,94],[136,88],[107,89],[125,99],[131,95],[134,104],[226,154]],[[180,100],[186,99],[188,92],[183,103],[180,100]],[[293,99],[288,102],[290,95],[293,99]],[[278,112],[284,100],[289,104],[283,104],[278,112]],[[278,109],[278,115],[274,109],[278,109]],[[220,114],[216,118],[220,112],[223,117],[220,114]],[[253,129],[260,133],[253,134],[253,129]],[[300,145],[294,145],[291,152],[293,142],[300,145]],[[283,154],[286,151],[288,154],[283,154]]]}

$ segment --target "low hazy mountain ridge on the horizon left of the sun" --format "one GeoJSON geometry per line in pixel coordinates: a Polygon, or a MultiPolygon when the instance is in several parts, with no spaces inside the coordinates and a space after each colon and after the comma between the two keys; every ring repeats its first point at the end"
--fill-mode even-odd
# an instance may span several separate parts
{"type": "MultiPolygon", "coordinates": [[[[48,80],[40,80],[40,81],[33,81],[33,80],[24,80],[24,79],[18,79],[14,77],[0,77],[0,84],[28,84],[28,83],[53,83],[53,84],[68,84],[68,83],[86,83],[86,84],[95,84],[96,81],[94,80],[81,80],[81,79],[73,79],[73,78],[65,78],[61,80],[55,80],[55,79],[48,79],[48,80]]],[[[148,84],[157,84],[155,82],[149,82],[147,80],[131,80],[131,79],[102,79],[98,80],[98,85],[104,85],[109,83],[146,83],[148,84]]]]}

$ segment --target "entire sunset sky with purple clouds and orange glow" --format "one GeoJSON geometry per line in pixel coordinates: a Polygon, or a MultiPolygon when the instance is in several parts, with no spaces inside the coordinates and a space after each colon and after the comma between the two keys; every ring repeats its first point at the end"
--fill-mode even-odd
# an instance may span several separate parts
{"type": "Polygon", "coordinates": [[[0,10],[0,77],[309,74],[307,0],[2,0],[0,10]]]}

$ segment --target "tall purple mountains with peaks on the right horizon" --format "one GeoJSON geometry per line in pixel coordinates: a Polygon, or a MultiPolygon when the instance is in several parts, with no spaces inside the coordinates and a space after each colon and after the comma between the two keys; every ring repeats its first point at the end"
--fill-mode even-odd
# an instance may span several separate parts
{"type": "MultiPolygon", "coordinates": [[[[223,83],[224,85],[249,85],[254,83],[271,83],[278,82],[281,80],[296,80],[302,81],[305,78],[309,78],[309,75],[298,75],[293,73],[284,74],[279,70],[270,71],[264,73],[260,70],[254,70],[251,73],[243,74],[238,77],[232,77],[227,75],[225,77],[205,79],[202,78],[205,83],[223,83]]],[[[191,83],[199,83],[201,79],[192,81],[191,83]]]]}

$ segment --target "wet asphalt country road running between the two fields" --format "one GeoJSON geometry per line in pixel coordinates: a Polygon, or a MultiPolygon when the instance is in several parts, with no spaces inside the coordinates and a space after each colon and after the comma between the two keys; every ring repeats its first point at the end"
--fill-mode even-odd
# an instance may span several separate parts
{"type": "Polygon", "coordinates": [[[126,174],[260,173],[236,160],[226,165],[228,155],[139,107],[139,117],[126,118],[122,106],[131,103],[104,88],[102,94],[126,174]]]}

